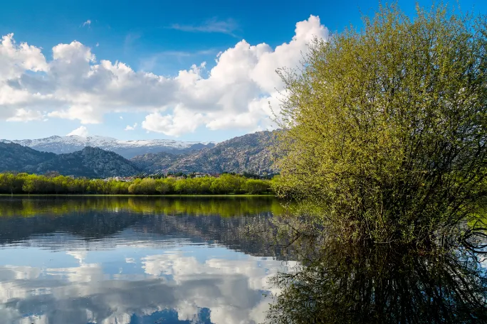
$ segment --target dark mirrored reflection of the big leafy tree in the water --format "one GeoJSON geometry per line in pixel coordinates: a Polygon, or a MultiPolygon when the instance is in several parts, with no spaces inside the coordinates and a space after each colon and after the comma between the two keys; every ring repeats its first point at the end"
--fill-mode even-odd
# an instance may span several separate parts
{"type": "Polygon", "coordinates": [[[320,241],[291,228],[301,262],[273,277],[281,293],[268,323],[487,323],[485,253],[320,241]]]}

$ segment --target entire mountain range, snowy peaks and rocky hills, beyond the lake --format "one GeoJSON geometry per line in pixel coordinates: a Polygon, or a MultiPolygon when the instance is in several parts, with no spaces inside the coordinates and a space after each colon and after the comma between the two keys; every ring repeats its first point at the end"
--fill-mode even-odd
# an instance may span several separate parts
{"type": "Polygon", "coordinates": [[[43,174],[58,171],[63,175],[88,178],[168,172],[275,173],[269,149],[275,135],[275,131],[260,131],[219,144],[169,140],[117,141],[100,136],[89,139],[52,136],[40,140],[0,141],[0,172],[43,174]],[[98,147],[83,146],[82,143],[98,147]],[[157,143],[164,145],[157,146],[157,143]],[[116,147],[118,144],[120,146],[116,147]],[[130,156],[127,154],[130,145],[144,153],[129,160],[115,151],[115,148],[125,150],[125,156],[130,156]],[[38,151],[33,147],[47,147],[50,151],[38,151]],[[78,151],[75,151],[77,148],[78,151]],[[56,153],[61,150],[69,153],[56,153]],[[159,151],[149,153],[155,150],[159,151]]]}

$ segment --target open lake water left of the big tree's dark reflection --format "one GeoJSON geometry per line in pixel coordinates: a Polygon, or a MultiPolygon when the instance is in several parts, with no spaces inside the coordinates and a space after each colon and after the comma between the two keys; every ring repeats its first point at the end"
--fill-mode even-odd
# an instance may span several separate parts
{"type": "Polygon", "coordinates": [[[0,323],[259,323],[276,200],[0,198],[0,323]]]}

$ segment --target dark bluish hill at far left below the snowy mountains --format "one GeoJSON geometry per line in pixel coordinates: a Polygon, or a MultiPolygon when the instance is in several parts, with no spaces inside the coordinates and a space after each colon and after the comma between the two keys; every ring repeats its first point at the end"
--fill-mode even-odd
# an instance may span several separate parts
{"type": "Polygon", "coordinates": [[[58,171],[62,175],[107,178],[140,173],[132,162],[117,153],[87,147],[82,151],[56,155],[35,151],[19,144],[0,143],[0,172],[18,171],[43,174],[58,171]]]}

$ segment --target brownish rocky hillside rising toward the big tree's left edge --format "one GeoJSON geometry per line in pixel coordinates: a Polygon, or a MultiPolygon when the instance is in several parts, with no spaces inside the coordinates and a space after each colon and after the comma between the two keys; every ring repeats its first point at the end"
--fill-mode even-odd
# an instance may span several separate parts
{"type": "Polygon", "coordinates": [[[186,155],[145,154],[131,161],[148,173],[272,173],[276,170],[273,168],[270,148],[275,135],[275,131],[259,131],[186,155]]]}

